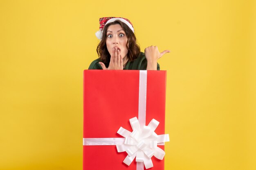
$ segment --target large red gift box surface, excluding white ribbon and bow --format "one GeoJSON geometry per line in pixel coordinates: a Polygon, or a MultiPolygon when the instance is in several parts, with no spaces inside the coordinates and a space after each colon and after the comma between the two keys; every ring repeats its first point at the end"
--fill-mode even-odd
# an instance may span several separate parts
{"type": "MultiPolygon", "coordinates": [[[[146,72],[146,125],[159,121],[155,133],[164,134],[166,71],[146,72]]],[[[139,70],[84,70],[83,138],[122,138],[120,126],[132,132],[129,119],[138,117],[139,70]]],[[[164,146],[158,146],[164,150],[164,146]]],[[[123,163],[127,153],[115,145],[83,146],[83,170],[136,170],[137,162],[123,163]]],[[[164,170],[164,159],[151,158],[153,168],[164,170]]],[[[144,167],[144,169],[146,169],[144,167]]]]}

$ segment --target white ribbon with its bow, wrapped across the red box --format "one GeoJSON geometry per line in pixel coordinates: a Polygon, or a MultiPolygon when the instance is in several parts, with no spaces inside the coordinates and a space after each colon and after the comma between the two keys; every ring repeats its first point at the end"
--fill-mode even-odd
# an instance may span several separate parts
{"type": "Polygon", "coordinates": [[[152,119],[148,126],[146,124],[146,92],[147,92],[147,71],[139,71],[139,112],[138,117],[130,119],[132,132],[120,127],[117,133],[122,137],[113,138],[83,138],[83,145],[116,145],[118,152],[128,153],[124,159],[126,165],[130,165],[135,159],[137,162],[137,170],[152,168],[153,163],[151,157],[155,156],[162,160],[165,152],[157,145],[164,145],[168,142],[169,135],[157,135],[154,131],[159,122],[152,119]]]}

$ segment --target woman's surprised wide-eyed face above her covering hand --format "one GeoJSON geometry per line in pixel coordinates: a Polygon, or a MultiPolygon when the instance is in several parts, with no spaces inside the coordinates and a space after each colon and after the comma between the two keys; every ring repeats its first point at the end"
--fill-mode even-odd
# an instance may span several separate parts
{"type": "Polygon", "coordinates": [[[128,53],[127,40],[128,38],[121,25],[115,24],[108,27],[106,45],[110,55],[112,54],[112,49],[117,47],[120,50],[121,58],[126,60],[128,53]]]}

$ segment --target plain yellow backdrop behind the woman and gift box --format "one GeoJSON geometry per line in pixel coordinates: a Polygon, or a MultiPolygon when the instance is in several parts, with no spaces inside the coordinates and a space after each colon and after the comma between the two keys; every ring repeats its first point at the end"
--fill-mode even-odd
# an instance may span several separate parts
{"type": "MultiPolygon", "coordinates": [[[[99,17],[171,50],[166,170],[256,169],[255,0],[1,0],[0,169],[81,170],[83,70],[99,17]]],[[[104,84],[104,82],[102,82],[104,84]]]]}

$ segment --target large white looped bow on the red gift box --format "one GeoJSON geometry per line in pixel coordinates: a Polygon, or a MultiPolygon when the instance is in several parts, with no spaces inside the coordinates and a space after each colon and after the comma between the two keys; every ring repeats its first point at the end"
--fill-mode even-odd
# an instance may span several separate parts
{"type": "Polygon", "coordinates": [[[117,144],[118,152],[128,153],[124,159],[126,165],[130,165],[136,157],[137,162],[143,162],[146,169],[152,168],[153,163],[151,157],[155,156],[157,159],[163,159],[165,152],[157,147],[157,144],[169,142],[169,135],[157,135],[154,131],[159,122],[152,119],[148,126],[140,127],[137,117],[130,119],[132,132],[120,127],[117,133],[125,137],[124,144],[117,144]]]}

